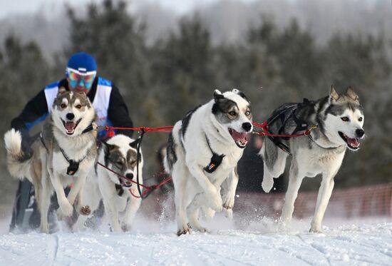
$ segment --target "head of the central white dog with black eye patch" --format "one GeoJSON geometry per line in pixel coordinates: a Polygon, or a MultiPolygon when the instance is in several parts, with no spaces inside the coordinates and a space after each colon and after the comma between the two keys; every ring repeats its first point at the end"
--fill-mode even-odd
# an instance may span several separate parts
{"type": "Polygon", "coordinates": [[[212,113],[222,125],[227,126],[227,132],[239,148],[245,148],[252,131],[252,112],[250,103],[244,93],[237,89],[223,96],[220,91],[215,90],[215,104],[212,113]]]}

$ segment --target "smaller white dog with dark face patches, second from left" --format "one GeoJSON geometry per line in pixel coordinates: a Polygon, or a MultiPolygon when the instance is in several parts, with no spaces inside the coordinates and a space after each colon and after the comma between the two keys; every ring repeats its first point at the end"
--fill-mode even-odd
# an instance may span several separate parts
{"type": "Polygon", "coordinates": [[[140,197],[138,185],[130,182],[130,180],[135,182],[138,180],[140,185],[143,185],[141,151],[138,166],[137,145],[139,141],[140,138],[133,140],[121,134],[115,135],[107,142],[102,141],[103,145],[99,150],[98,162],[105,165],[105,168],[102,165],[97,165],[95,173],[88,175],[89,185],[85,187],[86,203],[90,204],[91,210],[96,210],[102,199],[105,215],[110,221],[111,230],[115,232],[131,229],[135,214],[142,202],[141,198],[133,196],[140,197]],[[119,213],[123,211],[124,216],[120,225],[119,213]]]}

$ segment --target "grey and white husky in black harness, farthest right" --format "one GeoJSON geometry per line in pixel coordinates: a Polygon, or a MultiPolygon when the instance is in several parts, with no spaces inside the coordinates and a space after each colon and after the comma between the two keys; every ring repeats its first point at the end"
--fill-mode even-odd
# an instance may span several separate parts
{"type": "Polygon", "coordinates": [[[321,221],[334,188],[346,149],[358,150],[363,138],[363,108],[352,88],[339,95],[331,86],[329,96],[318,101],[286,103],[277,108],[269,119],[269,132],[292,134],[317,126],[308,137],[266,138],[260,154],[264,160],[262,188],[267,193],[274,185],[273,178],[284,172],[288,153],[292,155],[281,220],[291,220],[294,201],[305,177],[322,174],[311,232],[321,232],[321,221]],[[281,147],[281,148],[279,148],[281,147]],[[287,152],[285,152],[286,150],[287,152]]]}

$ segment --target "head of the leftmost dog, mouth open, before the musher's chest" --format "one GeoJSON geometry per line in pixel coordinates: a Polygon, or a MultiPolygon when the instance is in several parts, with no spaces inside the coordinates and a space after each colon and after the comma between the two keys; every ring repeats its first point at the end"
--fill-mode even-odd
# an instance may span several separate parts
{"type": "Polygon", "coordinates": [[[56,113],[53,121],[66,135],[80,135],[94,118],[94,111],[85,93],[58,90],[51,110],[56,113]]]}

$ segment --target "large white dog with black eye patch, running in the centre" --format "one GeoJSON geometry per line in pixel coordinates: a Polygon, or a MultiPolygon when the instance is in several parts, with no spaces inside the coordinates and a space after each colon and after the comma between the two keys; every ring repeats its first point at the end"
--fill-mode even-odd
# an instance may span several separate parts
{"type": "Polygon", "coordinates": [[[235,168],[252,128],[250,103],[237,89],[215,90],[214,99],[175,123],[165,169],[175,188],[177,235],[190,232],[190,227],[205,232],[198,220],[200,208],[233,207],[238,183],[235,168]]]}

